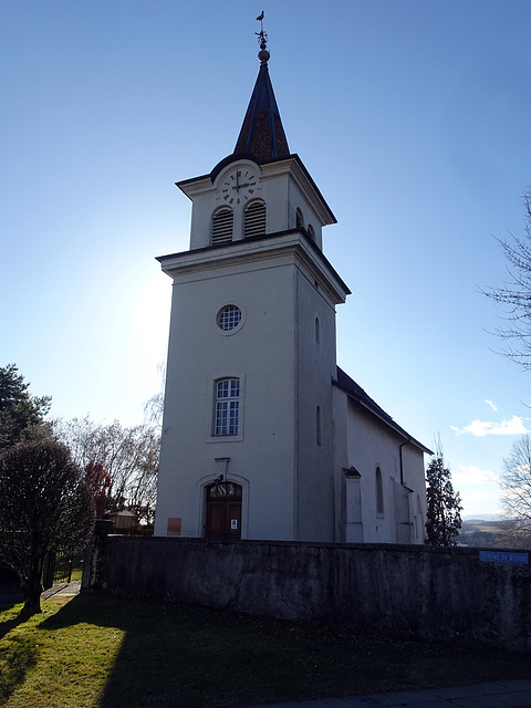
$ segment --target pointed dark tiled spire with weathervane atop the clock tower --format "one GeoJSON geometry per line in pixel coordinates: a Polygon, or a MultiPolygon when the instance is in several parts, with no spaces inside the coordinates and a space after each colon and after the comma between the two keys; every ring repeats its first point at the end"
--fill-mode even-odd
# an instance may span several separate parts
{"type": "MultiPolygon", "coordinates": [[[[257,19],[263,20],[263,13],[257,19]]],[[[260,52],[258,53],[260,71],[236,144],[235,155],[248,153],[257,157],[259,162],[282,159],[290,155],[290,148],[269,77],[268,35],[263,31],[263,27],[257,34],[260,41],[260,52]]]]}

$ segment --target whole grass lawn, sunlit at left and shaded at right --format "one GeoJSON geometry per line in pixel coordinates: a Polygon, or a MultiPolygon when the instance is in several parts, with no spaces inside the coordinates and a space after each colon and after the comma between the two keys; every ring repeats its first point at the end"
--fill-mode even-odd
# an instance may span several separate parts
{"type": "Polygon", "coordinates": [[[529,678],[529,655],[457,650],[200,607],[52,597],[0,611],[0,706],[222,708],[529,678]]]}

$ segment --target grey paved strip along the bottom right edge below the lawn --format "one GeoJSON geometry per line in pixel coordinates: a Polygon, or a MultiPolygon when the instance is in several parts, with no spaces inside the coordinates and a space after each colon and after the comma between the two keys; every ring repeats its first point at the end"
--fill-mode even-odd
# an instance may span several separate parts
{"type": "Polygon", "coordinates": [[[321,700],[289,700],[283,704],[247,706],[247,708],[530,708],[531,679],[496,681],[430,688],[428,690],[322,698],[321,700]]]}

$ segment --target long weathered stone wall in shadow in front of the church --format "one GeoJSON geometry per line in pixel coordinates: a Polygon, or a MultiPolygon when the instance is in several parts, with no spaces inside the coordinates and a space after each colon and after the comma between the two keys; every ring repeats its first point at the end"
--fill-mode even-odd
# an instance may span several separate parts
{"type": "Polygon", "coordinates": [[[85,591],[531,650],[531,566],[478,549],[110,537],[97,554],[85,591]]]}

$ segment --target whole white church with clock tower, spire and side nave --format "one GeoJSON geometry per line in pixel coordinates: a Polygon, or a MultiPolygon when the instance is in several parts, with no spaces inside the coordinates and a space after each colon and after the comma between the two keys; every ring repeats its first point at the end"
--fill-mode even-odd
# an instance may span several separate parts
{"type": "Polygon", "coordinates": [[[178,183],[156,535],[423,543],[429,450],[336,365],[335,217],[291,154],[266,42],[235,152],[178,183]]]}

